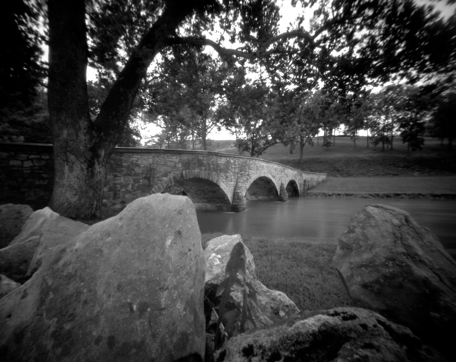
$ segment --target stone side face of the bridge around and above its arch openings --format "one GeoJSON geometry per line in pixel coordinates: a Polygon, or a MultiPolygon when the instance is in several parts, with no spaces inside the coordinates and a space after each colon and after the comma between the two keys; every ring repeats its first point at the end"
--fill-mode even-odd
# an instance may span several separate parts
{"type": "MultiPolygon", "coordinates": [[[[281,184],[285,188],[290,180],[294,180],[300,195],[326,178],[324,173],[303,172],[261,158],[228,153],[116,148],[107,169],[105,203],[115,212],[138,197],[163,192],[173,184],[182,184],[183,180],[207,179],[218,184],[229,202],[242,209],[247,189],[262,176],[271,179],[277,193],[281,184]]],[[[205,199],[210,205],[210,197],[205,199]]],[[[192,201],[202,207],[197,198],[192,201]]],[[[216,200],[213,201],[216,206],[207,208],[220,209],[216,200]]]]}

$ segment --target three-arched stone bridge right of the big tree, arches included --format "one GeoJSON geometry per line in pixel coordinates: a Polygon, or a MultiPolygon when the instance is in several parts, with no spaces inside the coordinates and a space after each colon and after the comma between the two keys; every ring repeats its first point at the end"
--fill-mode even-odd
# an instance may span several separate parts
{"type": "Polygon", "coordinates": [[[198,209],[242,211],[247,199],[286,201],[325,178],[229,153],[116,148],[106,170],[104,207],[111,214],[138,197],[171,191],[187,194],[198,209]]]}

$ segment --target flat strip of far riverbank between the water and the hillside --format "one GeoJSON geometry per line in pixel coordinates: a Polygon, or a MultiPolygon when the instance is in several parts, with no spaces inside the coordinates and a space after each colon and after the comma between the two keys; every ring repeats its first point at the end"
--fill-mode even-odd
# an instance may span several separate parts
{"type": "Polygon", "coordinates": [[[328,177],[307,191],[309,195],[360,197],[456,198],[456,176],[328,177]],[[376,196],[377,195],[377,196],[376,196]]]}

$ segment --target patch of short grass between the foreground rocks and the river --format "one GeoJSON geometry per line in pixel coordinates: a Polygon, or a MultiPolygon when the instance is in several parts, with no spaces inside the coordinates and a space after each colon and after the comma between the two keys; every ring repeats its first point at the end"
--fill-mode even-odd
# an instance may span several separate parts
{"type": "MultiPolygon", "coordinates": [[[[221,235],[203,234],[203,248],[221,235]]],[[[269,289],[284,292],[301,311],[349,305],[350,299],[332,266],[337,245],[248,236],[243,240],[254,257],[258,280],[269,289]]]]}

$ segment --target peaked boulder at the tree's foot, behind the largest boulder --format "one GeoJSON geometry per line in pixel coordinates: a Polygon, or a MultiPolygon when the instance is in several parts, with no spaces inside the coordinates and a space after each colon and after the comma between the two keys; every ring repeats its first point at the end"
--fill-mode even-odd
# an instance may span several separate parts
{"type": "Polygon", "coordinates": [[[88,225],[64,218],[48,207],[37,210],[10,245],[0,249],[0,273],[23,283],[41,265],[43,255],[87,231],[88,225]]]}

